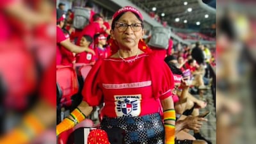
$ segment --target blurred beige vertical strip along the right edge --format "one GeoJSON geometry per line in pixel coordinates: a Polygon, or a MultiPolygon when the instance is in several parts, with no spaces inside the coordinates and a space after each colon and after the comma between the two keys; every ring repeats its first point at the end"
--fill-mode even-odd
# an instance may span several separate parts
{"type": "Polygon", "coordinates": [[[255,139],[255,1],[217,1],[217,143],[255,139]]]}

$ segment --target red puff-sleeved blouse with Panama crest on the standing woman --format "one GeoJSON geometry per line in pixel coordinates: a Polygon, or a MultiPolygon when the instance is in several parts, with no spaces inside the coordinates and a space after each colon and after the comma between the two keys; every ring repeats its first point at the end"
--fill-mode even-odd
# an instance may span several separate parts
{"type": "Polygon", "coordinates": [[[129,63],[120,58],[97,61],[84,81],[82,94],[90,106],[105,102],[102,115],[143,116],[160,112],[159,99],[172,96],[173,87],[166,63],[144,53],[129,63]]]}

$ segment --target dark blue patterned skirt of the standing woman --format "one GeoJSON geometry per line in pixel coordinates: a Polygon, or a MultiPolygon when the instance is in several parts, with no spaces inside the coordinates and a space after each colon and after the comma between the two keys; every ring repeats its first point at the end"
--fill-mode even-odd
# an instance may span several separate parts
{"type": "MultiPolygon", "coordinates": [[[[122,143],[125,144],[164,144],[164,126],[159,113],[145,116],[122,116],[118,118],[108,118],[104,116],[100,123],[101,129],[111,131],[116,135],[114,128],[122,130],[122,134],[117,138],[124,137],[122,143]]],[[[111,136],[109,136],[111,137],[111,136]]],[[[115,136],[114,136],[115,137],[115,136]]],[[[111,141],[111,138],[109,138],[111,141]]],[[[116,141],[116,140],[113,140],[116,141]]]]}

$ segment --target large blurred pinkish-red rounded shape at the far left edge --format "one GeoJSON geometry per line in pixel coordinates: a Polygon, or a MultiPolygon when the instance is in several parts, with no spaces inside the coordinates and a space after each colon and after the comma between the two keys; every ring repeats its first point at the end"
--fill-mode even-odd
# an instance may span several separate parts
{"type": "Polygon", "coordinates": [[[22,49],[0,49],[0,77],[6,84],[4,105],[7,108],[24,109],[27,97],[36,86],[33,58],[22,49]]]}

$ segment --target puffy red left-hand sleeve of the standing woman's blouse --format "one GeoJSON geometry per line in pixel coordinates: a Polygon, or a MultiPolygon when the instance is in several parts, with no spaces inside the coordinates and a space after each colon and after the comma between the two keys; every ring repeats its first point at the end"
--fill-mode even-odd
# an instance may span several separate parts
{"type": "Polygon", "coordinates": [[[98,106],[102,101],[102,90],[99,88],[99,70],[102,60],[97,61],[90,70],[88,76],[84,81],[84,87],[82,90],[83,100],[89,104],[89,106],[98,106]]]}

